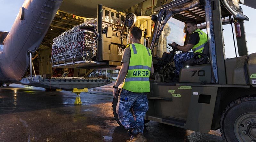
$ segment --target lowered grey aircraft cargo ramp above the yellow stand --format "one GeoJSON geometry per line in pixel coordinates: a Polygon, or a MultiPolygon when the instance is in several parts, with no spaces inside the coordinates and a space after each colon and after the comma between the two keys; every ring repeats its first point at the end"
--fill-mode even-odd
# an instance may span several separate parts
{"type": "Polygon", "coordinates": [[[73,88],[94,88],[112,83],[110,79],[84,78],[84,77],[56,77],[43,78],[33,76],[32,78],[22,78],[19,84],[42,87],[46,89],[61,89],[71,91],[73,88]]]}

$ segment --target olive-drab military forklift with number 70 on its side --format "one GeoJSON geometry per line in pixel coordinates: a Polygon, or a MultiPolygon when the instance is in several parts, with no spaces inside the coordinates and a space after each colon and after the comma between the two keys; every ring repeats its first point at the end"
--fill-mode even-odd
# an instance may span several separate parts
{"type": "MultiPolygon", "coordinates": [[[[220,129],[227,142],[256,142],[256,53],[248,55],[244,20],[249,18],[239,6],[243,2],[175,0],[155,9],[150,43],[155,73],[150,78],[145,122],[202,133],[220,129]],[[233,23],[227,22],[230,16],[240,24],[241,33],[236,38],[239,57],[226,59],[222,25],[233,23]],[[172,82],[173,58],[179,51],[170,43],[188,43],[189,33],[184,29],[188,18],[195,18],[198,28],[206,31],[208,43],[203,53],[195,53],[185,62],[176,83],[172,82]]],[[[132,14],[126,19],[127,27],[136,20],[132,14]]],[[[113,113],[119,122],[116,104],[114,98],[113,113]]]]}

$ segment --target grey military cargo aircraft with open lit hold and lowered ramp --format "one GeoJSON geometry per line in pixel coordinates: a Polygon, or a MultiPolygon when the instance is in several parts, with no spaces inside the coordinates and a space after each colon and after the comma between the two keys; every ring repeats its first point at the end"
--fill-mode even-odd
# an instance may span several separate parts
{"type": "MultiPolygon", "coordinates": [[[[42,78],[40,76],[24,78],[24,75],[29,66],[32,72],[32,66],[34,65],[31,60],[36,58],[38,56],[36,54],[39,53],[37,59],[37,66],[40,68],[39,73],[34,71],[34,74],[37,75],[52,75],[54,72],[52,67],[92,69],[111,68],[120,65],[120,61],[115,60],[117,57],[112,61],[109,57],[105,62],[90,61],[89,66],[84,66],[84,64],[75,65],[73,64],[74,61],[70,61],[73,62],[72,64],[60,62],[51,66],[52,40],[66,30],[84,23],[89,18],[97,18],[99,16],[98,4],[109,7],[110,9],[107,10],[110,13],[109,15],[112,16],[111,12],[113,10],[116,10],[113,12],[114,14],[120,15],[123,11],[133,12],[138,11],[138,9],[139,11],[141,9],[141,12],[152,9],[153,12],[154,6],[162,5],[165,2],[166,0],[155,0],[154,3],[150,0],[25,0],[20,7],[11,31],[0,32],[0,82],[20,83],[44,88],[51,86],[53,89],[60,88],[63,90],[71,90],[75,86],[78,88],[92,88],[108,84],[110,83],[108,79],[79,78],[78,75],[76,75],[76,78],[74,76],[71,76],[71,78],[42,78]]],[[[240,0],[240,3],[256,8],[256,1],[254,0],[240,0]]],[[[124,27],[124,25],[122,26],[124,27]]],[[[116,32],[116,37],[127,39],[122,34],[124,33],[116,32]]],[[[119,55],[117,60],[120,60],[121,56],[119,55]]],[[[80,69],[79,71],[82,72],[80,69]]],[[[73,70],[73,72],[79,71],[73,70]]]]}

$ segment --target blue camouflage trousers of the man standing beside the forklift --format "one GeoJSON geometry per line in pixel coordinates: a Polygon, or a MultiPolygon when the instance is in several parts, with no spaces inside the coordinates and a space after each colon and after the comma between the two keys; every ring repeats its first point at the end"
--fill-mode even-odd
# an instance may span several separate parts
{"type": "Polygon", "coordinates": [[[126,130],[139,128],[143,133],[144,117],[148,111],[147,93],[133,93],[121,89],[116,106],[119,121],[126,130]],[[130,108],[132,107],[132,113],[130,108]]]}

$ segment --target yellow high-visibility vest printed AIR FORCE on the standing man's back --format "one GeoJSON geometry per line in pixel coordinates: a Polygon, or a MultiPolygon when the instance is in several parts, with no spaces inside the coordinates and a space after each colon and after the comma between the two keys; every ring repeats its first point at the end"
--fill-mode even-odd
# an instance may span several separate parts
{"type": "Polygon", "coordinates": [[[135,93],[150,92],[151,51],[140,43],[128,45],[131,49],[131,58],[122,88],[135,93]]]}

